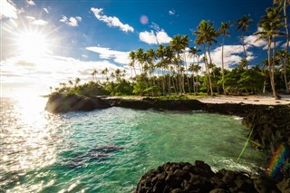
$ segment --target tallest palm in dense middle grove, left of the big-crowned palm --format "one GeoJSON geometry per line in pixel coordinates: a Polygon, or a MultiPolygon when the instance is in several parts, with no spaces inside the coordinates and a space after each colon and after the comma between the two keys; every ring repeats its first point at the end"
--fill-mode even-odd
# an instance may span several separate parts
{"type": "MultiPolygon", "coordinates": [[[[170,41],[170,47],[177,54],[177,70],[179,72],[179,67],[181,64],[180,53],[189,47],[189,37],[187,35],[175,35],[170,41]]],[[[179,74],[179,92],[182,93],[181,76],[179,74]]],[[[183,91],[184,92],[184,91],[183,91]]]]}

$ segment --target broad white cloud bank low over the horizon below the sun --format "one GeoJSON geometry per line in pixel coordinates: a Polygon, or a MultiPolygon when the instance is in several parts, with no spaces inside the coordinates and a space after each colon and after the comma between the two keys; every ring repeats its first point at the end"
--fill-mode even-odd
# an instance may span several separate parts
{"type": "MultiPolygon", "coordinates": [[[[1,84],[4,88],[11,90],[12,88],[9,85],[18,85],[18,87],[19,85],[25,85],[25,89],[29,91],[29,88],[37,85],[37,89],[41,90],[38,92],[41,92],[41,94],[49,93],[50,86],[55,88],[59,86],[60,82],[74,81],[77,77],[82,82],[92,81],[91,73],[94,69],[101,72],[108,68],[110,73],[117,68],[121,71],[125,69],[107,60],[86,62],[56,55],[29,59],[17,56],[1,61],[0,66],[1,84]]],[[[102,75],[98,74],[97,78],[102,80],[102,75]]],[[[5,93],[5,91],[2,92],[5,93]]]]}

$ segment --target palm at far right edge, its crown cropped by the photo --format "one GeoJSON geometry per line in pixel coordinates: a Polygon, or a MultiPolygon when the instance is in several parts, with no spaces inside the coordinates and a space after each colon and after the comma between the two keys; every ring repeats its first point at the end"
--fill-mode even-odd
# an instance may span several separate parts
{"type": "Polygon", "coordinates": [[[283,4],[283,14],[284,14],[284,22],[285,22],[285,36],[286,36],[286,47],[285,47],[285,60],[284,60],[284,81],[285,81],[285,87],[286,87],[286,92],[289,93],[289,87],[288,87],[288,82],[287,82],[287,76],[286,76],[286,63],[288,61],[288,55],[289,55],[289,29],[288,29],[288,22],[287,22],[287,14],[286,14],[286,9],[287,6],[290,5],[290,0],[274,0],[274,4],[283,4]]]}

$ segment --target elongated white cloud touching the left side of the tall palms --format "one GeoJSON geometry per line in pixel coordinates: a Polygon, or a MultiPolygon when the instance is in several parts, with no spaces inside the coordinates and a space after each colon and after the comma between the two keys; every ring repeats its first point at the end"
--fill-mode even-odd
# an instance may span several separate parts
{"type": "Polygon", "coordinates": [[[101,46],[86,47],[85,49],[94,53],[100,53],[102,59],[112,59],[115,63],[128,64],[129,63],[129,52],[114,51],[110,48],[101,46]]]}

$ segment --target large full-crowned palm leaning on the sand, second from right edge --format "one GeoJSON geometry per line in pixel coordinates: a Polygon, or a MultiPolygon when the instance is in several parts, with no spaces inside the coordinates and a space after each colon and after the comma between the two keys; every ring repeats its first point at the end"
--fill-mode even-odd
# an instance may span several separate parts
{"type": "Polygon", "coordinates": [[[279,7],[269,7],[266,9],[266,15],[262,16],[259,26],[263,29],[261,32],[256,32],[255,34],[259,35],[256,41],[261,39],[266,39],[267,41],[267,55],[268,55],[268,69],[271,82],[271,88],[273,96],[275,99],[278,99],[278,96],[275,92],[275,77],[274,77],[274,68],[275,68],[275,37],[277,35],[282,35],[279,32],[279,29],[284,25],[280,23],[281,20],[281,9],[279,7]],[[274,44],[273,48],[273,57],[271,56],[271,44],[274,44]],[[273,59],[273,60],[272,60],[273,59]]]}

